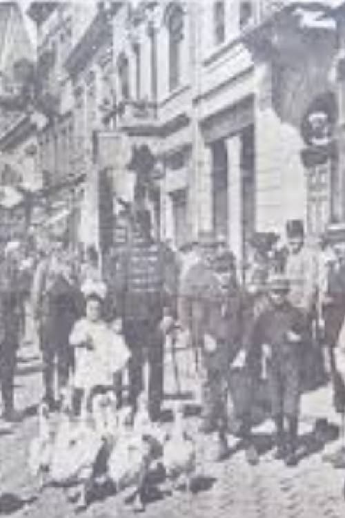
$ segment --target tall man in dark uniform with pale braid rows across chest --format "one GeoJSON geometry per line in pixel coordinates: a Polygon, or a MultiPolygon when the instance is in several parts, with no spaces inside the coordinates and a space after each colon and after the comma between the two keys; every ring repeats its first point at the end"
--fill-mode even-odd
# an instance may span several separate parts
{"type": "Polygon", "coordinates": [[[128,247],[118,262],[117,305],[126,343],[131,352],[129,362],[130,403],[137,408],[143,388],[148,390],[149,412],[159,419],[163,399],[164,334],[160,324],[168,316],[171,300],[166,292],[164,247],[152,238],[150,213],[138,209],[128,247]],[[144,363],[148,365],[148,387],[143,382],[144,363]]]}

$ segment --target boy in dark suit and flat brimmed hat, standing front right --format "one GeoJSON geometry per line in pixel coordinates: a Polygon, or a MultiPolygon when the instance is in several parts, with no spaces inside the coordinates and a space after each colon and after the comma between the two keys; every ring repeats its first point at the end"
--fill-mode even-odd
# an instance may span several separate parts
{"type": "Polygon", "coordinates": [[[289,302],[289,282],[281,274],[268,280],[270,307],[257,319],[253,333],[261,347],[264,376],[268,378],[276,427],[275,458],[287,466],[297,463],[297,425],[306,325],[301,311],[289,302]],[[288,423],[287,437],[284,421],[288,423]]]}

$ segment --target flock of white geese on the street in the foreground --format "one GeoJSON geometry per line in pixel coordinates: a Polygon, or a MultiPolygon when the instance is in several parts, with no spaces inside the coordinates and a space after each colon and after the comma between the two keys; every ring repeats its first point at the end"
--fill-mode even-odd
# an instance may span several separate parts
{"type": "Polygon", "coordinates": [[[173,403],[174,421],[167,433],[148,414],[144,392],[139,396],[137,412],[117,409],[115,394],[94,396],[92,412],[72,415],[67,398],[61,405],[57,423],[45,403],[39,405],[38,433],[30,443],[28,465],[39,483],[60,486],[83,510],[90,503],[95,481],[110,484],[117,493],[130,495],[135,511],[145,510],[150,473],[164,473],[169,491],[188,490],[196,470],[196,445],[185,430],[184,408],[173,403]],[[125,491],[126,490],[126,491],[125,491]]]}

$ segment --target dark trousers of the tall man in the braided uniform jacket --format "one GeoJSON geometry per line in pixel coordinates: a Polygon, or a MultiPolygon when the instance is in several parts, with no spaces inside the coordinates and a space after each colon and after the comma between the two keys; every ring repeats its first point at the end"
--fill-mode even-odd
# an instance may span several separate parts
{"type": "Polygon", "coordinates": [[[164,338],[159,323],[127,320],[124,336],[131,358],[128,365],[130,383],[130,404],[137,406],[137,397],[142,390],[148,390],[151,417],[156,419],[163,399],[163,344],[164,338]],[[148,387],[144,387],[144,364],[148,364],[148,387]]]}

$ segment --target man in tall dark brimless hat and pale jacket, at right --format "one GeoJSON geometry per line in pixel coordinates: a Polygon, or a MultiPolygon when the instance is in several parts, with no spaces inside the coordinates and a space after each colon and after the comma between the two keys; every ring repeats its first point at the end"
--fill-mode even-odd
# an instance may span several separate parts
{"type": "MultiPolygon", "coordinates": [[[[288,300],[293,307],[299,309],[309,329],[308,340],[313,340],[313,323],[317,317],[317,261],[315,253],[304,243],[304,224],[301,220],[290,220],[286,223],[288,254],[285,274],[290,282],[288,300]]],[[[307,383],[315,383],[323,369],[321,349],[306,349],[304,368],[307,383]]]]}

